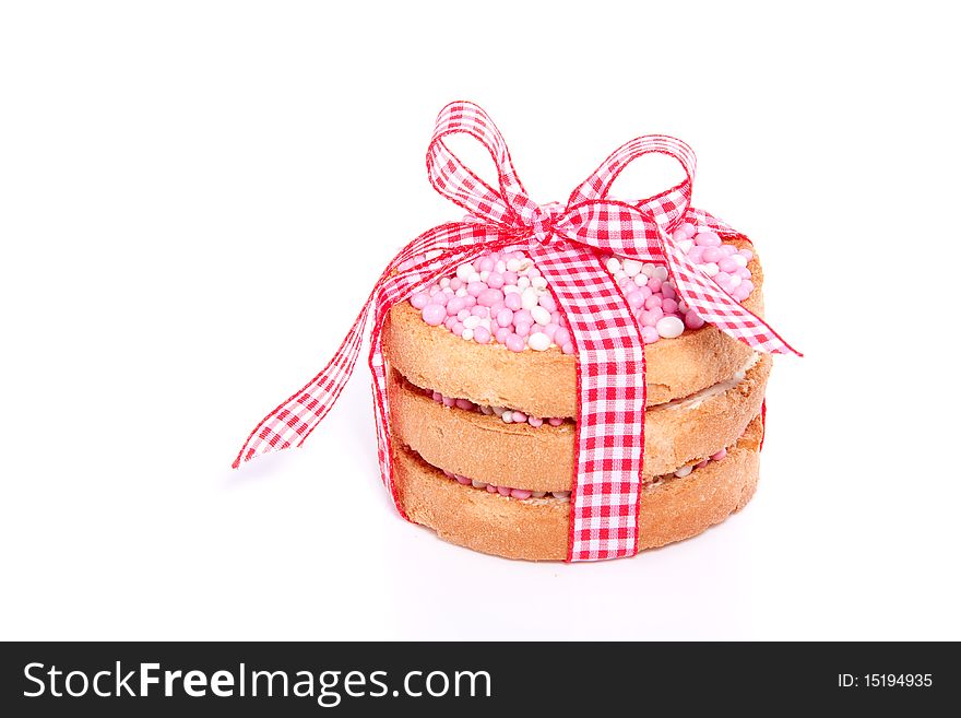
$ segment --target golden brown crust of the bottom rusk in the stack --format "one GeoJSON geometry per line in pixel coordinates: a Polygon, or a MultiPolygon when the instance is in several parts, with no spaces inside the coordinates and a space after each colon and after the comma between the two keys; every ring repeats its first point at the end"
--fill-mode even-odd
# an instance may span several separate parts
{"type": "MultiPolygon", "coordinates": [[[[645,484],[638,521],[640,549],[697,535],[741,509],[757,487],[761,432],[758,416],[723,460],[683,479],[668,476],[645,484]]],[[[569,503],[518,501],[463,486],[400,442],[395,442],[394,467],[404,513],[441,539],[508,558],[567,558],[569,503]]]]}

